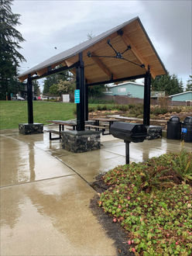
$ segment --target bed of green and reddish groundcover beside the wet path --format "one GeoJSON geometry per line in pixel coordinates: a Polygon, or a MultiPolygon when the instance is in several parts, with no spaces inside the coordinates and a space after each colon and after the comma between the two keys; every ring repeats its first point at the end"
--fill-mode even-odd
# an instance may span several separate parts
{"type": "Polygon", "coordinates": [[[192,153],[182,150],[118,166],[102,180],[109,189],[98,204],[130,232],[130,251],[191,255],[192,153]]]}

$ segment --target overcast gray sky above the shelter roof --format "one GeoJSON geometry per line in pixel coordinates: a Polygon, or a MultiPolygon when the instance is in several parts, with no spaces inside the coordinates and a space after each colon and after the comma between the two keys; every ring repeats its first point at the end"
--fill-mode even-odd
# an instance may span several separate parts
{"type": "Polygon", "coordinates": [[[47,58],[139,16],[170,74],[183,84],[192,74],[192,1],[56,1],[15,0],[18,27],[26,40],[21,54],[26,71],[47,58]],[[55,49],[57,47],[57,50],[55,49]]]}

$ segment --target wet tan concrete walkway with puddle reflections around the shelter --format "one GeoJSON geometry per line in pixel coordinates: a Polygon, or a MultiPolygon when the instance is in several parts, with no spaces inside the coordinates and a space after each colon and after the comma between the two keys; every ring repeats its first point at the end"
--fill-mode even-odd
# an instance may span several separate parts
{"type": "MultiPolygon", "coordinates": [[[[101,150],[73,154],[49,134],[24,136],[1,130],[1,255],[115,255],[89,208],[89,185],[102,171],[125,164],[125,144],[101,137],[101,150]]],[[[146,140],[130,144],[130,160],[142,161],[192,144],[146,140]]]]}

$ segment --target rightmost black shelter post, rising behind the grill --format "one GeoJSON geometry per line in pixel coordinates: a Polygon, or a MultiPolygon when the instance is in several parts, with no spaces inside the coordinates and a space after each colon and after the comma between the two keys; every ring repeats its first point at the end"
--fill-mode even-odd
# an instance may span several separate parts
{"type": "Polygon", "coordinates": [[[150,97],[151,97],[151,74],[150,68],[145,76],[145,87],[144,87],[144,106],[143,106],[143,124],[149,126],[150,124],[150,97]]]}

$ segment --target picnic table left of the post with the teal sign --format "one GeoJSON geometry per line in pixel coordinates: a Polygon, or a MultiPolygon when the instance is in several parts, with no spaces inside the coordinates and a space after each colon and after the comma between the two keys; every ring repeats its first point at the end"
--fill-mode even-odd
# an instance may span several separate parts
{"type": "Polygon", "coordinates": [[[61,132],[64,130],[64,126],[71,126],[73,127],[73,130],[77,127],[77,122],[74,121],[63,121],[63,120],[48,120],[47,123],[54,123],[59,125],[59,130],[47,130],[47,133],[50,133],[50,140],[60,140],[61,139],[61,132]],[[51,134],[58,134],[59,137],[51,137],[51,134]]]}

